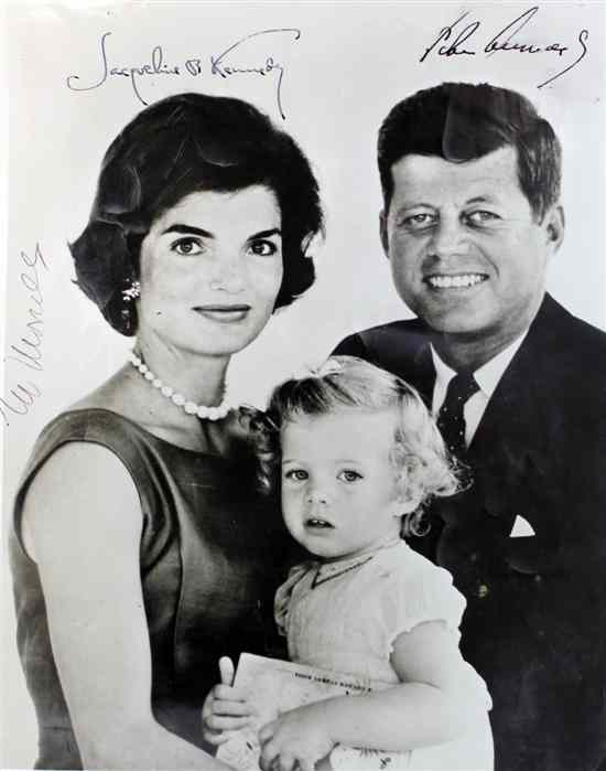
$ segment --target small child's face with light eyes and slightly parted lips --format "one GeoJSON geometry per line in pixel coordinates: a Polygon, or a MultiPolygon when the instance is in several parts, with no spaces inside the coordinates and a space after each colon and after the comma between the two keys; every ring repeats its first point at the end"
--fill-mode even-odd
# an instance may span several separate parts
{"type": "Polygon", "coordinates": [[[301,416],[282,428],[282,513],[312,554],[356,556],[400,533],[393,410],[301,416]]]}

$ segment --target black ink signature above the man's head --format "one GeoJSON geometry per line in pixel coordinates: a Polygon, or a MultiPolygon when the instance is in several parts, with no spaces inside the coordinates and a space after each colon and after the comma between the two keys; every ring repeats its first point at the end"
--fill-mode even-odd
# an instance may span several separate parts
{"type": "MultiPolygon", "coordinates": [[[[502,30],[500,30],[500,32],[497,32],[497,34],[486,43],[484,46],[484,52],[487,55],[499,52],[505,53],[516,51],[518,53],[527,54],[551,53],[558,55],[559,57],[563,56],[566,51],[571,50],[570,46],[555,42],[547,45],[538,45],[537,43],[522,42],[518,38],[520,31],[529,23],[538,11],[539,7],[534,6],[533,8],[529,8],[528,11],[524,11],[517,19],[513,19],[513,21],[509,22],[502,30]]],[[[474,36],[477,39],[476,33],[481,26],[481,22],[472,21],[464,25],[464,22],[469,17],[469,13],[470,11],[466,11],[453,24],[443,26],[440,30],[440,34],[435,41],[429,46],[429,49],[425,49],[425,53],[419,61],[424,62],[432,53],[437,56],[475,56],[477,50],[473,50],[470,39],[474,36]]],[[[575,41],[575,45],[578,45],[576,58],[555,75],[548,78],[544,83],[540,83],[538,88],[542,88],[543,86],[553,83],[553,81],[575,67],[587,53],[586,43],[588,38],[588,31],[581,30],[575,41]]],[[[474,42],[477,42],[477,40],[474,42]]]]}

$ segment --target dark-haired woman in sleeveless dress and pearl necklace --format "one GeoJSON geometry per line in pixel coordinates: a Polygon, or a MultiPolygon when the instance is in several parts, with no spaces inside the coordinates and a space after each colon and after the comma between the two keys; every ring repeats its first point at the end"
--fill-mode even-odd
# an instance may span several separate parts
{"type": "Polygon", "coordinates": [[[133,352],[42,432],[10,539],[36,768],[223,767],[201,706],[219,655],[271,645],[285,552],[226,370],[311,286],[321,228],[302,151],[244,101],[169,97],[107,151],[71,248],[133,352]]]}

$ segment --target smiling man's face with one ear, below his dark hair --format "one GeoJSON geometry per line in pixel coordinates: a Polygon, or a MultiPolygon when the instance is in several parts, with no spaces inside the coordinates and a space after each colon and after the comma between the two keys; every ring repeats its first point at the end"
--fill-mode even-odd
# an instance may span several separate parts
{"type": "Polygon", "coordinates": [[[562,210],[535,221],[511,147],[464,163],[405,156],[391,173],[381,236],[400,297],[439,332],[505,347],[539,309],[562,210]]]}

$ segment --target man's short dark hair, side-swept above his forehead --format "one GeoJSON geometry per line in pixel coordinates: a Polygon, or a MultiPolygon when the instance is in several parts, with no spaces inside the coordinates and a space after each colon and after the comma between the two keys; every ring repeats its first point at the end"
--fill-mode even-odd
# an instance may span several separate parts
{"type": "Polygon", "coordinates": [[[518,181],[535,218],[560,197],[561,148],[550,124],[521,94],[487,83],[442,83],[398,103],[379,130],[378,161],[386,211],[391,167],[404,156],[439,156],[453,163],[512,147],[518,181]]]}

